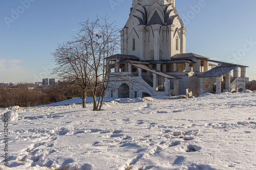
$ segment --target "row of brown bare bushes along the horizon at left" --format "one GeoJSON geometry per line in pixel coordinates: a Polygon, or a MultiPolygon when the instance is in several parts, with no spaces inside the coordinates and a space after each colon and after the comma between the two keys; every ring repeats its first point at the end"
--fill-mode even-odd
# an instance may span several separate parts
{"type": "MultiPolygon", "coordinates": [[[[56,86],[2,86],[0,87],[0,108],[47,105],[81,97],[82,91],[78,85],[65,82],[56,86]]],[[[90,91],[88,92],[88,96],[92,96],[90,91]]]]}

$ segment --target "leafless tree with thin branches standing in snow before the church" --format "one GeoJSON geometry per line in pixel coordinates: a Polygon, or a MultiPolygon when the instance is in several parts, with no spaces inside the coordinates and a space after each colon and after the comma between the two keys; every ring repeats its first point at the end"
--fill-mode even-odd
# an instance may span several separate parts
{"type": "Polygon", "coordinates": [[[53,74],[62,80],[77,83],[83,89],[83,107],[87,92],[93,96],[93,110],[101,110],[110,81],[112,59],[119,49],[119,31],[109,18],[89,19],[80,23],[81,29],[73,41],[59,44],[52,54],[57,67],[53,74]],[[97,99],[98,94],[98,99],[97,99]]]}

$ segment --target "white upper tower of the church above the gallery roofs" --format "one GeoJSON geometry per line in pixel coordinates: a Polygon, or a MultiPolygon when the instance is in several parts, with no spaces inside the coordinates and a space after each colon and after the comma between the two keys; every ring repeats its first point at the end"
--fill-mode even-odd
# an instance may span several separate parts
{"type": "Polygon", "coordinates": [[[121,33],[121,54],[142,61],[169,60],[186,53],[186,29],[175,0],[133,0],[121,33]]]}

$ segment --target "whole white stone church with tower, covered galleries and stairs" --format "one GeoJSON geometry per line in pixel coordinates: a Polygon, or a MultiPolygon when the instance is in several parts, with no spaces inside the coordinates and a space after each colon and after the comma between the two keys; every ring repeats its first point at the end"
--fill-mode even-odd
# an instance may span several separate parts
{"type": "Polygon", "coordinates": [[[133,0],[130,17],[120,33],[121,54],[111,56],[115,63],[109,67],[112,74],[130,81],[116,81],[106,97],[186,92],[198,96],[245,90],[246,66],[186,53],[186,29],[175,0],[133,0]]]}

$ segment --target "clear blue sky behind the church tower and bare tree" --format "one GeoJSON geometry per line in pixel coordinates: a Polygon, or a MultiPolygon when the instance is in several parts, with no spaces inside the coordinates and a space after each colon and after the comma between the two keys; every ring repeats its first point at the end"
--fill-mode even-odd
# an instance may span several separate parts
{"type": "MultiPolygon", "coordinates": [[[[256,80],[255,6],[254,0],[176,0],[186,52],[249,66],[246,76],[256,80]]],[[[78,23],[108,14],[121,29],[131,7],[132,0],[0,1],[0,82],[52,78],[51,53],[72,39],[78,23]]]]}

